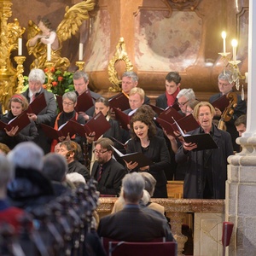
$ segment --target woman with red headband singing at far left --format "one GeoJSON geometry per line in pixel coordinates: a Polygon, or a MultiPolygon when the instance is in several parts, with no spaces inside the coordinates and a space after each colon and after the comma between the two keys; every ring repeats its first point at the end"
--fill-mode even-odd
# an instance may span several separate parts
{"type": "MultiPolygon", "coordinates": [[[[9,112],[4,114],[1,121],[8,124],[10,120],[15,119],[20,113],[28,108],[28,102],[23,95],[15,94],[9,100],[9,112]]],[[[31,120],[29,125],[26,125],[21,131],[19,127],[13,127],[11,130],[4,129],[0,131],[0,142],[8,145],[10,149],[15,148],[18,143],[35,141],[38,137],[38,129],[35,122],[31,120]]]]}

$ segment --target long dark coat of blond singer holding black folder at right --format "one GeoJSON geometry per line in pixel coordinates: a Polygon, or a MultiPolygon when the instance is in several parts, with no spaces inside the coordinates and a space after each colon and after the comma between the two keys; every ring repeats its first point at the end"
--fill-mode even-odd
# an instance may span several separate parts
{"type": "MultiPolygon", "coordinates": [[[[190,134],[199,134],[201,127],[190,134]]],[[[213,140],[218,148],[200,151],[183,152],[183,146],[178,148],[175,159],[177,163],[185,163],[186,169],[183,187],[183,197],[202,199],[206,184],[205,173],[210,171],[213,185],[213,199],[225,198],[225,182],[227,179],[227,158],[233,154],[230,134],[218,130],[213,125],[213,140]],[[205,158],[205,160],[204,160],[205,158]]],[[[177,170],[178,171],[178,170],[177,170]]]]}

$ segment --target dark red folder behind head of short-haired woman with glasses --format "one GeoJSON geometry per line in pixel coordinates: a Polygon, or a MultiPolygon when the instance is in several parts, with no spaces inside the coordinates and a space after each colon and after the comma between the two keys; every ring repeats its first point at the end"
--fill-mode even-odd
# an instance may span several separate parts
{"type": "MultiPolygon", "coordinates": [[[[63,111],[62,106],[62,96],[56,96],[56,101],[58,103],[58,107],[60,109],[60,112],[63,111]]],[[[85,90],[84,93],[78,96],[77,100],[77,106],[75,107],[76,112],[85,112],[89,108],[94,106],[92,97],[90,96],[90,90],[85,90]]]]}

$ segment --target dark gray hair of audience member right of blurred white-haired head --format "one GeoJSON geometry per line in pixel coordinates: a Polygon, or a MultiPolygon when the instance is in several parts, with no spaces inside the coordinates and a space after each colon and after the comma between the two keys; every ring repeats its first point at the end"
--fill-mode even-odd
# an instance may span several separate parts
{"type": "Polygon", "coordinates": [[[67,160],[61,154],[49,153],[44,156],[42,172],[49,180],[62,182],[67,174],[67,160]]]}

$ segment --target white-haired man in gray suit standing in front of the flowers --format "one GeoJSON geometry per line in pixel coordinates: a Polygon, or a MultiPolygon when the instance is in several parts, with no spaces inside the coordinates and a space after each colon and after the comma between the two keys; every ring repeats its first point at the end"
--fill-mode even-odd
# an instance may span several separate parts
{"type": "Polygon", "coordinates": [[[34,68],[28,75],[28,89],[22,94],[26,97],[28,102],[32,102],[35,97],[44,93],[46,107],[36,115],[35,113],[29,113],[29,119],[32,119],[38,128],[38,140],[35,143],[44,149],[44,154],[49,153],[50,143],[45,137],[44,131],[41,128],[41,124],[49,125],[57,112],[57,106],[55,102],[55,96],[52,92],[44,90],[43,85],[45,81],[45,74],[42,69],[34,68]]]}

